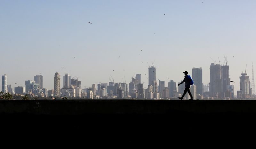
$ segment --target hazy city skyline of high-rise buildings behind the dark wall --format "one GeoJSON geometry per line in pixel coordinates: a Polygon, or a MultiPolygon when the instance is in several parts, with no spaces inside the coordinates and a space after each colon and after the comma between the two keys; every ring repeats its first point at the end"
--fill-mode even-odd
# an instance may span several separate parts
{"type": "MultiPolygon", "coordinates": [[[[253,69],[253,65],[252,65],[253,69]]],[[[146,74],[145,74],[146,75],[146,74]]],[[[112,76],[111,76],[112,78],[112,76]]],[[[192,68],[192,79],[194,84],[191,86],[190,92],[196,100],[213,100],[213,99],[255,99],[254,76],[252,70],[252,82],[250,77],[242,73],[240,78],[240,90],[237,96],[234,96],[234,85],[229,78],[229,66],[211,63],[210,65],[210,82],[203,84],[203,68],[192,68]]],[[[169,79],[169,78],[168,78],[169,79]]],[[[12,90],[12,86],[7,82],[7,74],[2,75],[2,92],[10,92],[13,95],[24,96],[26,94],[31,97],[41,98],[83,98],[83,99],[177,99],[181,97],[185,83],[177,86],[177,83],[170,79],[165,86],[165,81],[156,78],[156,67],[148,67],[148,84],[141,82],[141,74],[132,76],[130,83],[114,82],[109,77],[108,83],[98,82],[92,84],[92,87],[82,89],[81,81],[78,77],[72,77],[69,74],[63,76],[63,87],[60,87],[60,73],[54,75],[54,89],[45,89],[43,87],[43,76],[36,75],[34,80],[25,81],[25,87],[18,86],[12,90]]],[[[182,82],[182,80],[180,81],[182,82]]],[[[178,82],[178,84],[180,83],[178,82]]],[[[188,93],[184,96],[184,100],[189,99],[188,93]]]]}

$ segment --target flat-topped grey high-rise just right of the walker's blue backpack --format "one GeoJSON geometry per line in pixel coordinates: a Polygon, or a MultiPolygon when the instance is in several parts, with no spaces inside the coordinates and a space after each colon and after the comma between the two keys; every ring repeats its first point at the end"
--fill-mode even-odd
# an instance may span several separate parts
{"type": "Polygon", "coordinates": [[[203,68],[193,68],[192,69],[192,79],[194,81],[194,85],[196,85],[197,94],[202,95],[204,92],[203,89],[203,68]]]}

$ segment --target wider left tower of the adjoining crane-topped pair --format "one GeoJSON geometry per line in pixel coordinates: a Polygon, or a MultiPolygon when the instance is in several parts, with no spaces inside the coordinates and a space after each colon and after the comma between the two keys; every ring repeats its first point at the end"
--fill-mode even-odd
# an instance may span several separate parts
{"type": "Polygon", "coordinates": [[[221,65],[211,63],[210,66],[210,95],[215,97],[221,94],[221,65]]]}

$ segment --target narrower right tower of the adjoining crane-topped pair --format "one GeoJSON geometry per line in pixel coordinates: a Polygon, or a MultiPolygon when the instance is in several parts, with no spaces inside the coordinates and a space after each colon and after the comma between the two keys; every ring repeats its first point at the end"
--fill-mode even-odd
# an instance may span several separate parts
{"type": "Polygon", "coordinates": [[[223,65],[223,66],[221,66],[221,92],[222,92],[222,96],[224,96],[225,92],[228,90],[228,85],[230,85],[229,66],[228,65],[223,65]]]}

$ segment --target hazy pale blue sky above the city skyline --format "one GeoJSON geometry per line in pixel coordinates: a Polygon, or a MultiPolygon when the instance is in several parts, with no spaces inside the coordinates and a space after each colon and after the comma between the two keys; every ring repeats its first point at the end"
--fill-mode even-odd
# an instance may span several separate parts
{"type": "Polygon", "coordinates": [[[255,0],[0,0],[0,74],[13,89],[39,73],[53,89],[55,72],[61,87],[65,73],[83,88],[109,75],[129,83],[134,73],[148,84],[147,62],[155,60],[165,86],[193,67],[203,67],[208,84],[210,57],[222,64],[227,55],[236,94],[246,63],[250,80],[256,65],[255,7],[255,0]]]}

